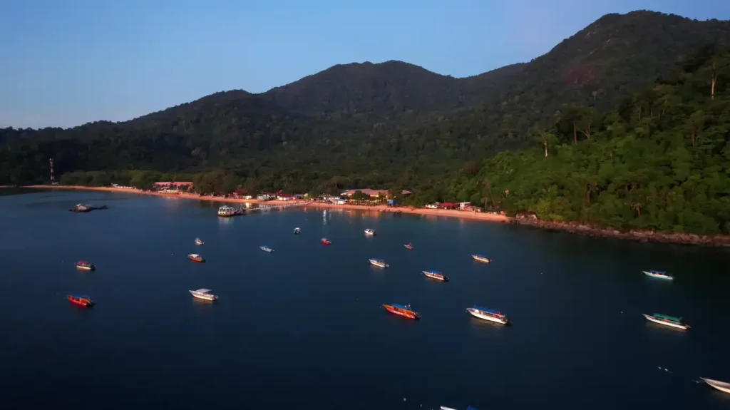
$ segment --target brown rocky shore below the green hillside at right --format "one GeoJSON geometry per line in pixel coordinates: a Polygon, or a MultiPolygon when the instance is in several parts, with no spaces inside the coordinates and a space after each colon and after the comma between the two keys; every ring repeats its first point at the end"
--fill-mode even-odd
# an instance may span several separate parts
{"type": "Polygon", "coordinates": [[[712,247],[730,247],[730,235],[696,235],[694,233],[664,233],[655,231],[617,231],[612,228],[593,228],[577,222],[550,222],[539,220],[534,215],[518,214],[513,224],[532,226],[546,231],[577,233],[594,238],[629,239],[640,242],[663,244],[688,244],[712,247]]]}

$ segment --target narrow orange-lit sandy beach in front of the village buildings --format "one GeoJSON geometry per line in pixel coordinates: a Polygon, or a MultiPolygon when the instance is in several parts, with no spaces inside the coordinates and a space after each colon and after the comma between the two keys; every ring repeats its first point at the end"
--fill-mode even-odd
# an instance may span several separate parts
{"type": "Polygon", "coordinates": [[[499,214],[488,214],[485,212],[467,212],[467,211],[456,211],[448,209],[425,209],[425,208],[414,208],[412,206],[366,206],[366,205],[337,205],[337,204],[326,204],[322,202],[311,202],[311,201],[257,201],[255,199],[235,199],[235,198],[221,198],[219,196],[199,196],[190,193],[157,193],[150,191],[143,191],[131,188],[120,188],[120,187],[82,187],[82,186],[69,186],[69,185],[31,185],[28,188],[37,189],[55,189],[55,190],[93,190],[100,192],[113,192],[113,193],[130,193],[137,195],[153,195],[163,196],[165,198],[175,199],[196,199],[198,201],[215,201],[215,202],[226,202],[231,204],[271,204],[271,205],[299,205],[307,206],[308,208],[321,208],[321,209],[342,209],[352,211],[366,211],[366,212],[390,212],[390,213],[403,213],[403,214],[416,214],[426,215],[431,217],[455,217],[466,220],[482,220],[486,222],[500,222],[509,223],[512,218],[505,217],[499,214]]]}

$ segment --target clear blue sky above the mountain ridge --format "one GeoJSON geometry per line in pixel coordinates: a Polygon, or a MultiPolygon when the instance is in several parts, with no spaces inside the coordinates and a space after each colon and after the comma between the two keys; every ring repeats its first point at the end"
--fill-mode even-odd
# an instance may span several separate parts
{"type": "Polygon", "coordinates": [[[467,77],[636,9],[730,18],[730,0],[0,0],[0,127],[129,120],[338,63],[467,77]]]}

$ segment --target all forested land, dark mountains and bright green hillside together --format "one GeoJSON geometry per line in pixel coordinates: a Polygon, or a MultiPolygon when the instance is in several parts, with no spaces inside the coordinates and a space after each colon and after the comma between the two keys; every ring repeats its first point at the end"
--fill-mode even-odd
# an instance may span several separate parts
{"type": "Polygon", "coordinates": [[[409,189],[412,204],[729,232],[729,69],[705,47],[729,40],[727,21],[606,15],[529,63],[475,77],[355,63],[124,123],[5,128],[0,184],[47,182],[53,158],[64,184],[409,189]]]}

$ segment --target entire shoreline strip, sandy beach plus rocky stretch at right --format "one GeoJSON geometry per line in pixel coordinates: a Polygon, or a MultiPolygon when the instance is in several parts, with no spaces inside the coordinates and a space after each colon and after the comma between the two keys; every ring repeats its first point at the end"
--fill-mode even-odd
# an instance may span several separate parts
{"type": "Polygon", "coordinates": [[[485,212],[466,212],[456,211],[450,209],[425,209],[415,208],[412,206],[403,207],[389,207],[386,205],[366,206],[366,205],[337,205],[337,204],[326,204],[317,203],[311,201],[258,201],[255,199],[236,199],[236,198],[219,198],[212,196],[197,196],[189,193],[156,193],[150,191],[143,191],[130,188],[120,187],[83,187],[83,186],[68,186],[68,185],[29,185],[25,188],[34,189],[51,189],[51,190],[90,190],[98,192],[110,192],[110,193],[132,193],[137,195],[148,195],[148,196],[161,196],[164,198],[174,199],[194,199],[198,201],[212,201],[212,202],[225,202],[229,204],[271,204],[271,205],[292,205],[302,206],[307,208],[320,208],[320,209],[341,209],[350,211],[372,211],[372,212],[388,212],[392,214],[415,214],[423,215],[426,217],[453,217],[462,220],[480,220],[484,222],[492,223],[506,223],[509,225],[521,225],[529,226],[531,228],[537,228],[542,231],[556,231],[564,233],[575,233],[583,236],[590,236],[592,238],[605,238],[605,239],[624,239],[639,242],[653,242],[663,244],[686,244],[686,245],[701,245],[711,247],[730,247],[730,235],[696,235],[694,233],[662,233],[655,231],[618,231],[615,229],[604,229],[604,228],[593,228],[589,225],[584,225],[576,222],[550,222],[543,220],[531,219],[529,217],[523,217],[518,215],[515,218],[506,217],[500,214],[488,214],[485,212]]]}

